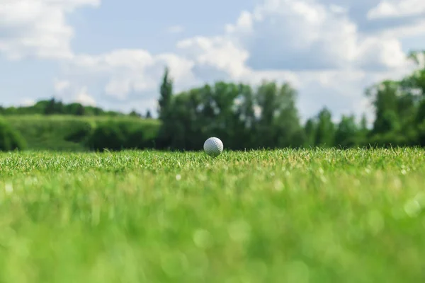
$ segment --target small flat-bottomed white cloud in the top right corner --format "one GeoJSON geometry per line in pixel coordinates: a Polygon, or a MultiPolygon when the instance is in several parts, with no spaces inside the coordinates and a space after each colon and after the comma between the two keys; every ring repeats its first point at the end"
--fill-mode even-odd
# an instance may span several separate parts
{"type": "Polygon", "coordinates": [[[382,0],[368,11],[368,18],[397,18],[425,13],[423,0],[382,0]]]}

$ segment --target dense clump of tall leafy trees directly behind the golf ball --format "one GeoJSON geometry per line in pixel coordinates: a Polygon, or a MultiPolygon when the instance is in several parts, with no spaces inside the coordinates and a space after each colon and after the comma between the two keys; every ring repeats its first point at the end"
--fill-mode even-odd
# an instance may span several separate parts
{"type": "Polygon", "coordinates": [[[171,149],[198,150],[212,136],[227,149],[302,146],[295,96],[287,83],[264,82],[255,91],[244,84],[207,84],[172,96],[164,132],[171,149]]]}

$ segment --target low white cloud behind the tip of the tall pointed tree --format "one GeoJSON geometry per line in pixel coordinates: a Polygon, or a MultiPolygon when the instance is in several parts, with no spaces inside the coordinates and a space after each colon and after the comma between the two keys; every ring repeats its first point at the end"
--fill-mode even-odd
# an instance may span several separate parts
{"type": "Polygon", "coordinates": [[[113,52],[91,55],[77,55],[63,62],[64,80],[74,86],[98,85],[98,93],[117,100],[127,100],[132,93],[157,93],[159,79],[164,67],[169,66],[174,81],[181,86],[193,81],[193,62],[175,54],[153,56],[145,50],[114,50],[113,52]]]}

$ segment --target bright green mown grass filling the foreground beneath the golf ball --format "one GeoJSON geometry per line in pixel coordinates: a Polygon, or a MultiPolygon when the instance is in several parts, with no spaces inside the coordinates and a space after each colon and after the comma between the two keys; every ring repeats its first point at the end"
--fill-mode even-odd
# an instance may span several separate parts
{"type": "Polygon", "coordinates": [[[0,154],[0,282],[423,282],[424,161],[0,154]]]}

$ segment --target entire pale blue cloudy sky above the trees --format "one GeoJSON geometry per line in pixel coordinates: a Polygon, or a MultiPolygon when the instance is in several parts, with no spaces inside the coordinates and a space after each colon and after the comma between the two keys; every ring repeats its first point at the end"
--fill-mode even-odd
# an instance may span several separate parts
{"type": "Polygon", "coordinates": [[[168,66],[176,92],[274,80],[297,89],[302,120],[372,119],[365,88],[422,49],[423,0],[0,0],[0,104],[156,112],[168,66]]]}

